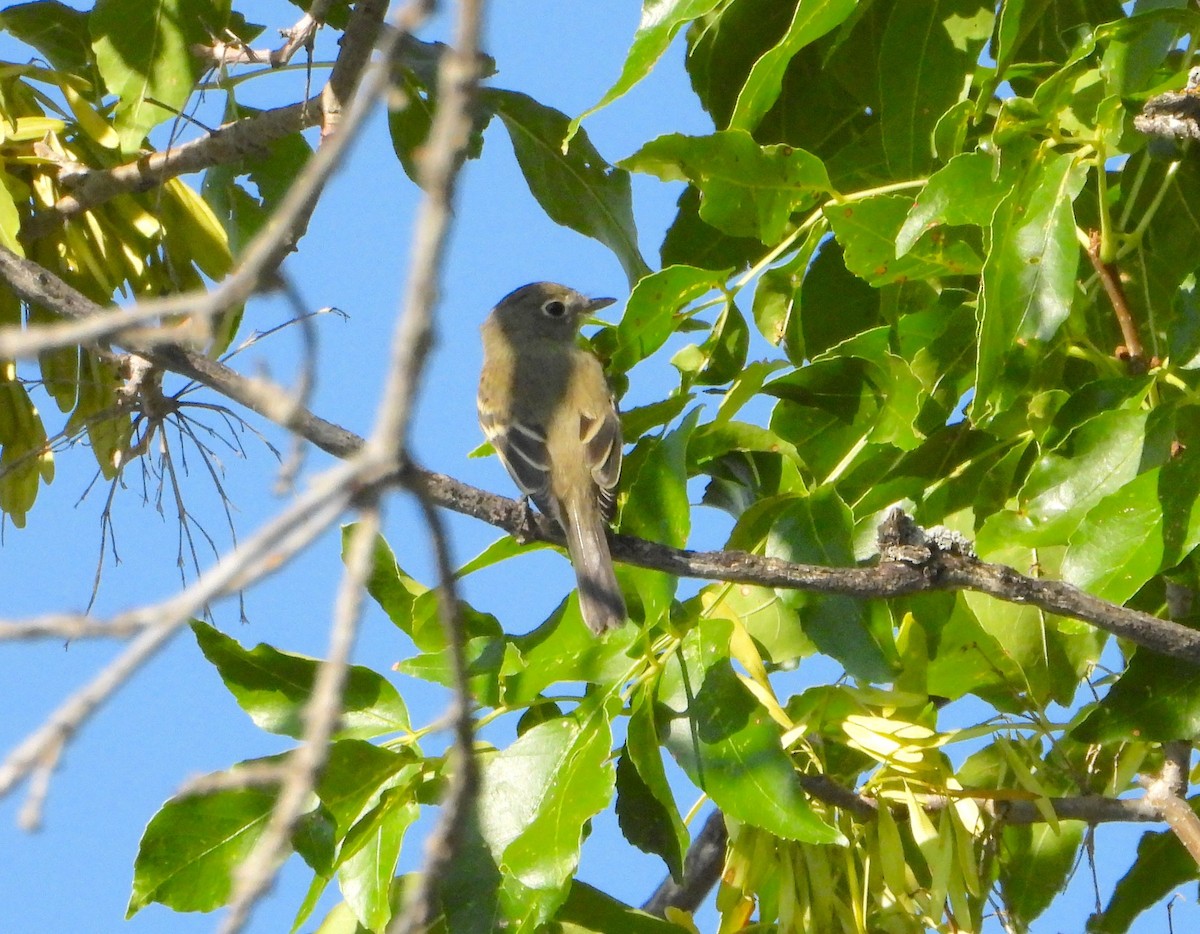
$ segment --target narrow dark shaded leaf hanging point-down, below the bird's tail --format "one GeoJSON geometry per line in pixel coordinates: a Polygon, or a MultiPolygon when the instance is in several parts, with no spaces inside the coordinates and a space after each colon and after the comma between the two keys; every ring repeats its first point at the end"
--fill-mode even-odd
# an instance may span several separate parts
{"type": "Polygon", "coordinates": [[[617,762],[617,822],[620,832],[643,852],[662,857],[683,885],[683,858],[690,838],[667,784],[654,728],[654,706],[638,691],[629,716],[625,749],[617,762]]]}

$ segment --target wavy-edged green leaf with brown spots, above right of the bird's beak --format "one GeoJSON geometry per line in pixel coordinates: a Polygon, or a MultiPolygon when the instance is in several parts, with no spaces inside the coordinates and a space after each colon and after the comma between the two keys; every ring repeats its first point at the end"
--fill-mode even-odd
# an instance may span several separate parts
{"type": "Polygon", "coordinates": [[[701,193],[701,220],[763,244],[779,243],[792,214],[830,191],[829,175],[811,152],[760,146],[742,130],[660,136],[619,164],[664,181],[690,181],[701,193]]]}

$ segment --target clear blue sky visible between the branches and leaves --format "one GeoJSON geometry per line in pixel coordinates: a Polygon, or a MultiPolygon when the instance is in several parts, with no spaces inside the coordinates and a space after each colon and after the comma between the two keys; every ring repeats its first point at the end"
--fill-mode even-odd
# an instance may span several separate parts
{"type": "MultiPolygon", "coordinates": [[[[532,95],[566,114],[593,104],[616,78],[638,8],[611,0],[505,0],[492,4],[486,46],[499,73],[492,82],[532,95]]],[[[269,30],[290,25],[295,7],[275,0],[236,4],[269,30]]],[[[443,20],[422,32],[445,38],[443,20]]],[[[269,34],[268,34],[269,36],[269,34]]],[[[322,48],[323,47],[323,48],[322,48]]],[[[322,52],[330,54],[330,36],[322,52]]],[[[11,55],[11,43],[0,55],[11,55]]],[[[644,140],[665,132],[703,133],[708,118],[691,95],[677,42],[654,74],[628,97],[590,118],[586,130],[599,151],[616,161],[644,140]]],[[[314,80],[319,80],[319,77],[314,80]]],[[[258,83],[246,100],[257,104],[290,101],[300,91],[296,74],[272,76],[258,83]]],[[[247,89],[248,90],[248,89],[247,89]]],[[[192,180],[196,184],[196,180],[192,180]]],[[[634,179],[635,215],[647,259],[654,264],[658,245],[674,214],[678,186],[634,179]]],[[[401,172],[382,113],[376,114],[350,158],[330,185],[300,251],[286,265],[310,309],[336,306],[347,319],[318,319],[319,370],[312,408],[360,433],[374,418],[376,399],[386,365],[388,345],[408,264],[408,234],[416,192],[401,172]]],[[[624,295],[625,277],[601,245],[557,227],[533,202],[499,121],[488,130],[484,157],[468,163],[458,196],[457,223],[438,311],[438,342],[432,358],[414,431],[415,453],[425,466],[488,490],[512,493],[509,478],[494,459],[468,460],[480,442],[475,421],[475,381],[480,361],[478,327],[490,306],[511,288],[550,279],[594,295],[624,295]]],[[[614,318],[620,305],[610,310],[614,318]]],[[[268,329],[290,313],[277,299],[252,303],[247,327],[268,329]]],[[[240,355],[244,372],[265,367],[275,378],[294,378],[299,335],[280,333],[240,355]]],[[[655,364],[635,370],[626,405],[661,397],[671,375],[653,372],[655,364]],[[643,372],[644,371],[644,372],[643,372]]],[[[199,399],[199,394],[197,394],[199,399]]],[[[55,413],[41,406],[48,423],[55,413]]],[[[256,423],[278,447],[287,439],[256,423]]],[[[49,425],[48,425],[49,426],[49,425]]],[[[52,429],[53,430],[53,429],[52,429]]],[[[173,441],[175,441],[173,438],[173,441]]],[[[270,492],[277,466],[252,437],[248,457],[226,457],[224,484],[236,505],[235,523],[248,534],[283,508],[270,492]]],[[[308,451],[305,477],[328,465],[308,451]]],[[[187,484],[188,504],[204,513],[216,505],[210,484],[194,469],[187,484]]],[[[54,484],[42,491],[24,531],[5,529],[0,551],[2,615],[19,618],[55,609],[82,609],[89,598],[100,552],[100,510],[104,490],[79,498],[94,467],[86,451],[58,460],[54,484]]],[[[301,479],[301,483],[304,480],[301,479]]],[[[179,586],[174,556],[176,522],[169,503],[160,515],[142,503],[137,471],[118,497],[115,525],[121,564],[106,559],[97,600],[104,615],[158,599],[179,586]]],[[[694,544],[719,547],[727,525],[719,516],[701,521],[694,544]]],[[[221,521],[208,523],[217,541],[228,543],[221,521]]],[[[462,562],[493,541],[496,529],[452,517],[452,550],[462,562]]],[[[432,580],[422,546],[424,534],[410,504],[400,496],[388,508],[386,534],[401,564],[414,576],[432,580]]],[[[209,556],[208,559],[211,559],[209,556]]],[[[511,567],[480,573],[466,583],[464,595],[497,613],[514,631],[536,625],[571,586],[566,562],[551,552],[526,556],[511,567]],[[536,591],[528,581],[539,581],[536,591]]],[[[332,592],[340,576],[338,539],[331,533],[271,580],[247,594],[250,623],[239,623],[238,606],[215,610],[216,622],[245,645],[259,641],[280,648],[323,654],[332,592]]],[[[386,671],[403,658],[408,645],[376,607],[371,607],[355,660],[386,671]]],[[[0,651],[0,691],[6,713],[0,718],[0,748],[7,750],[70,691],[86,681],[120,649],[106,642],[6,645],[0,651]]],[[[444,696],[427,685],[403,682],[413,719],[436,718],[444,696]]],[[[46,806],[46,826],[25,834],[17,828],[23,792],[0,801],[0,930],[206,932],[216,918],[176,915],[151,906],[125,922],[133,857],[145,822],[187,778],[223,768],[241,759],[289,748],[290,742],[253,728],[200,657],[188,631],[121,690],[68,746],[55,773],[46,806]]],[[[692,792],[682,796],[686,808],[692,792]]],[[[1124,870],[1138,832],[1102,831],[1100,891],[1124,870]],[[1114,843],[1105,845],[1109,834],[1114,843]],[[1105,856],[1110,857],[1105,860],[1105,856]]],[[[402,869],[420,856],[412,837],[402,869]]],[[[662,875],[661,863],[625,844],[611,813],[596,821],[584,848],[582,875],[617,897],[638,903],[662,875]]],[[[1039,930],[1080,930],[1091,910],[1090,884],[1080,886],[1039,930]]],[[[274,894],[259,906],[253,932],[287,930],[311,874],[293,858],[274,894]]],[[[326,908],[330,899],[326,899],[326,908]]],[[[320,910],[316,918],[319,918],[320,910]]],[[[712,926],[712,915],[708,915],[712,926]]],[[[1181,923],[1182,912],[1176,914],[1181,923]]],[[[316,920],[306,929],[316,927],[316,920]]],[[[1162,914],[1145,930],[1165,927],[1162,914]]],[[[1178,928],[1177,928],[1178,929],[1178,928]]]]}

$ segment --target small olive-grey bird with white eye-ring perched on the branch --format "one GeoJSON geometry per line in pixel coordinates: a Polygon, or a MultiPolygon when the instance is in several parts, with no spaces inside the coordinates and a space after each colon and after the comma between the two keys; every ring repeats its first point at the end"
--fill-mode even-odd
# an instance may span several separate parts
{"type": "Polygon", "coordinates": [[[616,299],[554,282],[505,295],[484,322],[479,424],[521,492],[566,534],[583,622],[600,635],[625,622],[607,521],[620,477],[620,420],[583,319],[616,299]]]}

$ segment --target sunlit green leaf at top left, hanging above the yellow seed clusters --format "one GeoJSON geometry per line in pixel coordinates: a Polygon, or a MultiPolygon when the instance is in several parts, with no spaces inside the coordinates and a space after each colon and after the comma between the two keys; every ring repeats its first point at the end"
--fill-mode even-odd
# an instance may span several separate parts
{"type": "Polygon", "coordinates": [[[88,24],[100,74],[118,97],[122,152],[184,110],[199,77],[191,47],[211,42],[227,16],[214,0],[97,0],[88,24]]]}

